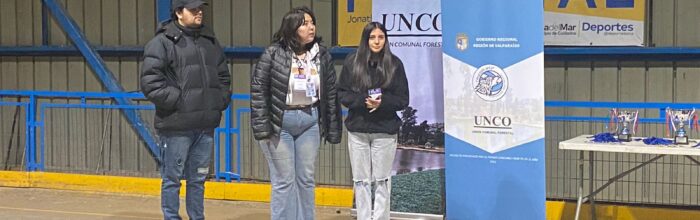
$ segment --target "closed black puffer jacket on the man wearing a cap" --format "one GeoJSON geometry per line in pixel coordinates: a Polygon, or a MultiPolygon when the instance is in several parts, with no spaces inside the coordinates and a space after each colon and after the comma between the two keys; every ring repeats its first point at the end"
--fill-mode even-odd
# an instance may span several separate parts
{"type": "Polygon", "coordinates": [[[206,26],[187,30],[164,22],[146,44],[141,91],[156,106],[162,131],[213,129],[231,96],[223,49],[206,26]]]}

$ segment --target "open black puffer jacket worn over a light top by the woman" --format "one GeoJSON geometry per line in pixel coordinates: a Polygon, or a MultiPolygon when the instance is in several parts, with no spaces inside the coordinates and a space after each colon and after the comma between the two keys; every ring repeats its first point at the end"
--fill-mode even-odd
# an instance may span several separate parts
{"type": "MultiPolygon", "coordinates": [[[[289,74],[293,52],[273,43],[263,52],[255,66],[250,83],[250,107],[255,139],[279,135],[284,110],[287,108],[289,74]]],[[[321,46],[318,53],[321,64],[319,97],[319,128],[321,137],[330,143],[340,143],[342,136],[340,103],[335,89],[335,68],[331,54],[321,46]]]]}

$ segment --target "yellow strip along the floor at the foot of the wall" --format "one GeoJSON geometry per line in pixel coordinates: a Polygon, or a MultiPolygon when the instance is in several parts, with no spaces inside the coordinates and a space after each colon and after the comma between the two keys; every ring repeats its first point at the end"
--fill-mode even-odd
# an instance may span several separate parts
{"type": "MultiPolygon", "coordinates": [[[[139,195],[159,195],[160,179],[139,177],[99,176],[84,174],[0,171],[0,186],[110,192],[139,195]]],[[[185,187],[180,190],[184,195],[185,187]]],[[[237,201],[270,201],[270,184],[207,182],[205,198],[237,201]]],[[[351,207],[352,188],[316,187],[316,204],[351,207]]],[[[576,203],[547,201],[548,220],[573,219],[576,203]]],[[[620,205],[597,205],[596,216],[610,220],[700,219],[700,211],[649,208],[620,205]]],[[[590,218],[590,208],[584,205],[581,219],[590,218]]]]}

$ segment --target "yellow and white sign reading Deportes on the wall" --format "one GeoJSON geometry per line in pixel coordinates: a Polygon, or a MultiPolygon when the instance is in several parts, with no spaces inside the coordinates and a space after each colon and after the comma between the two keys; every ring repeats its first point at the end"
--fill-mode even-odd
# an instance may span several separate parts
{"type": "Polygon", "coordinates": [[[545,45],[643,46],[645,0],[545,0],[545,45]]]}

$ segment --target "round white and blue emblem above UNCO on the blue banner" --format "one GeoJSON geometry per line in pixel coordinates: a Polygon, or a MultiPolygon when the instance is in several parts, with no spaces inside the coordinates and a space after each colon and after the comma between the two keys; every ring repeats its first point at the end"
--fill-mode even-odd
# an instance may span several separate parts
{"type": "Polygon", "coordinates": [[[508,76],[495,65],[484,65],[474,72],[472,77],[474,92],[486,101],[496,101],[508,91],[508,76]]]}

